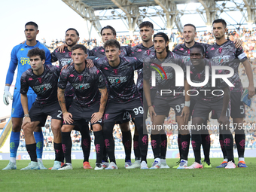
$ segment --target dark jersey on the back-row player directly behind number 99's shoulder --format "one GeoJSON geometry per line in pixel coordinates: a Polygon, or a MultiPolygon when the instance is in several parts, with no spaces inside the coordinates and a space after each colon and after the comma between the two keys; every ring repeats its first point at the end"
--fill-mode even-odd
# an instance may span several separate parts
{"type": "MultiPolygon", "coordinates": [[[[147,56],[146,54],[143,55],[146,51],[154,51],[154,45],[152,47],[145,47],[143,44],[138,44],[132,47],[132,54],[137,59],[140,59],[142,62],[145,58],[143,56],[147,56]]],[[[143,90],[143,69],[139,69],[138,71],[138,78],[137,78],[137,87],[139,90],[143,90]]]]}

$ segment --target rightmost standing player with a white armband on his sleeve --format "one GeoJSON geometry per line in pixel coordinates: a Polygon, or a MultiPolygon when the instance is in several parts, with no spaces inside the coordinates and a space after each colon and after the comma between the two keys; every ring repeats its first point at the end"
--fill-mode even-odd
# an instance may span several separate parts
{"type": "MultiPolygon", "coordinates": [[[[244,159],[245,130],[243,130],[241,127],[245,117],[245,106],[243,102],[241,102],[243,88],[239,78],[238,68],[240,62],[242,62],[249,81],[248,99],[250,99],[252,96],[254,96],[255,93],[251,65],[247,56],[242,50],[242,47],[236,48],[233,44],[233,41],[227,40],[225,38],[225,32],[227,32],[227,23],[224,20],[214,20],[212,23],[212,28],[216,43],[207,48],[206,57],[213,59],[214,62],[221,66],[230,66],[235,71],[235,74],[229,78],[230,82],[235,85],[235,87],[230,87],[231,117],[233,118],[233,125],[236,133],[235,142],[239,157],[238,167],[247,167],[244,159]]],[[[218,168],[228,166],[227,150],[224,148],[226,141],[223,135],[220,135],[220,144],[224,156],[224,161],[220,166],[218,166],[218,168]]]]}

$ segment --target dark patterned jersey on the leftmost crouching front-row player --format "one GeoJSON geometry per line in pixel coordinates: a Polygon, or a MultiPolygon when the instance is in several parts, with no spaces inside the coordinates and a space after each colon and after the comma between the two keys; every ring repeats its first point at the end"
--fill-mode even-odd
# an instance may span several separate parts
{"type": "Polygon", "coordinates": [[[44,72],[41,75],[35,75],[32,69],[23,72],[20,78],[20,93],[26,94],[29,87],[37,95],[35,102],[41,105],[49,105],[58,102],[57,82],[60,69],[56,66],[44,66],[44,72]]]}

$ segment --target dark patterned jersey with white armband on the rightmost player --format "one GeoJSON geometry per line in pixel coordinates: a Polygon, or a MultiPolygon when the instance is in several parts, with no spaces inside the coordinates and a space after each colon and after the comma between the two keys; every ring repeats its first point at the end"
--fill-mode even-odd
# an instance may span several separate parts
{"type": "MultiPolygon", "coordinates": [[[[247,60],[242,47],[236,48],[233,41],[227,40],[224,44],[213,44],[206,50],[206,58],[212,59],[213,62],[220,66],[229,66],[234,69],[234,75],[228,78],[234,87],[230,87],[231,92],[241,92],[242,83],[239,78],[238,68],[240,62],[247,60]]],[[[229,71],[226,71],[229,73],[229,71]]]]}

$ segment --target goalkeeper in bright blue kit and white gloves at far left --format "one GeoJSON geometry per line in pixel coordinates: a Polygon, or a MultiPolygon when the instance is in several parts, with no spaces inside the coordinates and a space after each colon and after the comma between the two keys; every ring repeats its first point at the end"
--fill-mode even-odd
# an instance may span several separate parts
{"type": "MultiPolygon", "coordinates": [[[[30,61],[27,53],[29,50],[39,47],[45,50],[46,61],[45,64],[51,65],[50,62],[50,51],[47,47],[44,47],[39,41],[36,40],[36,35],[38,34],[38,25],[34,22],[28,22],[25,25],[25,35],[26,41],[24,44],[18,44],[13,48],[11,51],[11,62],[8,69],[8,73],[6,75],[5,81],[5,92],[4,92],[4,103],[5,105],[9,105],[9,99],[13,99],[12,109],[11,109],[11,122],[12,122],[12,132],[10,138],[10,162],[8,166],[6,166],[3,170],[8,169],[17,169],[16,166],[16,156],[17,156],[17,148],[19,147],[20,143],[20,130],[21,125],[23,123],[23,107],[20,102],[20,77],[27,69],[30,69],[30,61]],[[11,84],[14,80],[14,72],[15,69],[18,67],[17,72],[17,79],[14,88],[14,97],[9,92],[11,84]]],[[[29,109],[32,106],[32,103],[35,102],[36,94],[34,91],[29,87],[28,90],[28,105],[29,109]]],[[[43,154],[43,145],[44,145],[44,136],[41,131],[41,127],[37,127],[34,132],[35,141],[36,141],[36,153],[38,157],[38,163],[40,169],[47,169],[44,167],[42,163],[42,154],[43,154]]]]}

